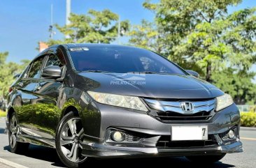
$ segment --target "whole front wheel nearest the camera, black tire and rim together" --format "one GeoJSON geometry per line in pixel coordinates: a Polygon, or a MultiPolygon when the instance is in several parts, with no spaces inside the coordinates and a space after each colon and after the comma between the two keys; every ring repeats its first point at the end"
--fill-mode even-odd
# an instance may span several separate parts
{"type": "Polygon", "coordinates": [[[59,159],[67,167],[82,167],[87,157],[81,155],[83,141],[83,125],[78,115],[66,114],[59,122],[55,144],[59,159]]]}

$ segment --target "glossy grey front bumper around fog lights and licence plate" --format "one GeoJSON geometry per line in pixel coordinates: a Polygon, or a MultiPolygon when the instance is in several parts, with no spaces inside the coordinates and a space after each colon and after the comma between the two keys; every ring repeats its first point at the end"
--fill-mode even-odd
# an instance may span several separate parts
{"type": "MultiPolygon", "coordinates": [[[[239,139],[240,114],[236,105],[231,105],[216,113],[208,121],[172,122],[163,123],[143,112],[134,112],[128,109],[101,105],[95,102],[93,111],[100,112],[99,125],[90,118],[90,124],[83,116],[85,137],[83,139],[82,154],[88,157],[118,158],[118,157],[157,157],[157,156],[185,156],[185,155],[221,155],[222,153],[239,153],[243,151],[239,139]],[[206,146],[157,146],[161,137],[171,137],[172,125],[207,125],[208,135],[215,137],[216,143],[206,146]],[[99,128],[98,132],[95,129],[99,128]],[[236,127],[236,139],[220,142],[218,136],[236,127]],[[129,132],[131,135],[142,136],[138,142],[108,143],[108,130],[118,129],[129,132]],[[143,137],[145,136],[145,137],[143,137]]],[[[91,114],[92,111],[90,111],[91,114]]],[[[94,115],[96,116],[96,115],[94,115]]],[[[99,116],[99,115],[98,115],[99,116]]],[[[210,136],[209,136],[210,137],[210,136]]],[[[186,143],[186,142],[185,142],[186,143]]],[[[187,143],[190,143],[189,141],[187,143]]]]}

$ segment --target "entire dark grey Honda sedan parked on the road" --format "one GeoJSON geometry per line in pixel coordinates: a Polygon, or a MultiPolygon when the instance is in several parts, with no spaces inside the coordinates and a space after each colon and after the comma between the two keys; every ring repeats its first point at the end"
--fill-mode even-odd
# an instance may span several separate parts
{"type": "Polygon", "coordinates": [[[50,146],[68,167],[90,157],[186,156],[209,163],[243,151],[231,96],[136,47],[45,49],[10,87],[8,102],[10,150],[50,146]]]}

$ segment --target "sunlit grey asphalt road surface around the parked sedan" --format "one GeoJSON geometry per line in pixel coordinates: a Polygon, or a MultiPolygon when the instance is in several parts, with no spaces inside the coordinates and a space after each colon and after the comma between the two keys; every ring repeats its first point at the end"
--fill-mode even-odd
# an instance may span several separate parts
{"type": "MultiPolygon", "coordinates": [[[[26,155],[17,155],[10,153],[8,146],[8,136],[4,134],[5,123],[0,119],[0,167],[1,168],[48,168],[65,167],[60,162],[55,149],[41,146],[29,146],[26,155]],[[15,163],[17,165],[15,165],[15,163]],[[12,165],[12,166],[9,166],[12,165]]],[[[225,158],[213,165],[192,165],[183,157],[178,158],[150,158],[150,159],[106,159],[90,160],[87,164],[93,167],[104,165],[104,167],[159,167],[169,165],[172,168],[255,168],[256,167],[256,129],[241,130],[241,139],[243,142],[243,153],[227,154],[225,158]]]]}

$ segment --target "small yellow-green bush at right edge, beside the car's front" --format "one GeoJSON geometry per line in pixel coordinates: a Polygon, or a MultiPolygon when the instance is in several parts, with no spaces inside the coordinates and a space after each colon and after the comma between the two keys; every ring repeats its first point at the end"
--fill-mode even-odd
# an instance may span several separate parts
{"type": "Polygon", "coordinates": [[[241,126],[256,127],[256,112],[241,112],[241,126]]]}

